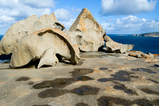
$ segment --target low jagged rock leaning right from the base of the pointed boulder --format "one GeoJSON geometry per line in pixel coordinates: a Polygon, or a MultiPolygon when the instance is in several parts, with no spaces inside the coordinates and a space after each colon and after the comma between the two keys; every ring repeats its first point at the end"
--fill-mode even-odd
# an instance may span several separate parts
{"type": "Polygon", "coordinates": [[[105,45],[108,52],[124,53],[133,49],[134,45],[121,44],[104,35],[105,45]]]}

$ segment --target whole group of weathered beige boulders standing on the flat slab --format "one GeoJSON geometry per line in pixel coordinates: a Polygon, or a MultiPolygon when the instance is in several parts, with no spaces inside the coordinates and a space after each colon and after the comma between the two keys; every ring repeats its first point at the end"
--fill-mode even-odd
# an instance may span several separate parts
{"type": "Polygon", "coordinates": [[[63,57],[77,64],[79,50],[98,51],[104,46],[108,52],[126,52],[133,45],[114,42],[84,8],[66,35],[62,31],[54,13],[37,18],[35,15],[13,24],[0,42],[0,54],[10,54],[11,67],[22,67],[31,61],[40,60],[37,68],[43,65],[54,66],[63,57]],[[62,58],[61,58],[62,57],[62,58]]]}

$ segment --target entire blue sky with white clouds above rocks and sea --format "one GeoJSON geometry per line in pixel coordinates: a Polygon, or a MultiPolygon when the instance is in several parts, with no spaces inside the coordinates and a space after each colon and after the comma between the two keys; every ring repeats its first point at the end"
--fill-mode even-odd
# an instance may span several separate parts
{"type": "Polygon", "coordinates": [[[159,32],[159,0],[0,0],[0,34],[33,14],[52,12],[69,29],[84,7],[108,34],[159,32]]]}

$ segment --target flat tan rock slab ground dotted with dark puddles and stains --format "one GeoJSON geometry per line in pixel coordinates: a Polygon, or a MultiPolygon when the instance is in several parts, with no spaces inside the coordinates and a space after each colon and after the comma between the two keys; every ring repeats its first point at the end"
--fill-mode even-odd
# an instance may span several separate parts
{"type": "Polygon", "coordinates": [[[0,64],[1,106],[159,106],[159,57],[85,52],[78,65],[0,64]]]}

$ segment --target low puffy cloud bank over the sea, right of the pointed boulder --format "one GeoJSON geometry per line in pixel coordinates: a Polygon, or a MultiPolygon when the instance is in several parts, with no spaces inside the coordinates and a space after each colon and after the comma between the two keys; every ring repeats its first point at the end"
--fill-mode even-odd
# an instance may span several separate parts
{"type": "Polygon", "coordinates": [[[159,31],[159,21],[140,19],[133,15],[103,23],[102,26],[107,33],[114,34],[136,34],[159,31]]]}

